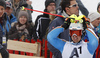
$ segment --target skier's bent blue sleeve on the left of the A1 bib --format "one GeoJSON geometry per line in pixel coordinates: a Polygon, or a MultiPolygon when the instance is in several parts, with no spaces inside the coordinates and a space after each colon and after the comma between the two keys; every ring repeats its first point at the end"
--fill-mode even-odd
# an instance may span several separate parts
{"type": "Polygon", "coordinates": [[[65,42],[58,38],[58,35],[63,32],[64,28],[56,28],[52,30],[48,36],[47,39],[51,45],[53,45],[56,49],[58,49],[61,53],[63,51],[63,47],[65,45],[65,42]]]}

